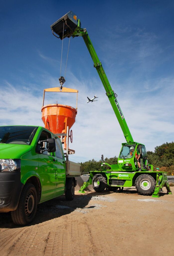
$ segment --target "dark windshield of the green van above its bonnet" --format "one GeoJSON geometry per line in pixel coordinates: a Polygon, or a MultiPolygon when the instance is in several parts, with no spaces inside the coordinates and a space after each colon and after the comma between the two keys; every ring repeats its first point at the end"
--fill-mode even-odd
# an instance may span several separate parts
{"type": "Polygon", "coordinates": [[[38,127],[0,126],[0,143],[30,145],[38,127]]]}

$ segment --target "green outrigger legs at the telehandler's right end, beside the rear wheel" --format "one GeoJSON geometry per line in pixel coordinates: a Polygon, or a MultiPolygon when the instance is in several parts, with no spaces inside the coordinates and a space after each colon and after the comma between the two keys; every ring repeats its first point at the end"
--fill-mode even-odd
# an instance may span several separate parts
{"type": "Polygon", "coordinates": [[[162,175],[160,175],[158,177],[158,184],[155,187],[155,190],[154,190],[154,193],[153,193],[152,197],[159,197],[158,193],[159,193],[160,189],[162,189],[163,187],[166,187],[167,194],[169,194],[169,195],[172,194],[171,190],[170,190],[168,180],[167,180],[167,174],[166,173],[163,173],[162,175]]]}

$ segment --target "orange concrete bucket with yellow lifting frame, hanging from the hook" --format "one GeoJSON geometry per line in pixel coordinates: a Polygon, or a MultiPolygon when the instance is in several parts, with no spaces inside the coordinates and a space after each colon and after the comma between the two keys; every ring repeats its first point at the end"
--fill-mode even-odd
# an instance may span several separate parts
{"type": "Polygon", "coordinates": [[[68,150],[68,154],[74,154],[75,151],[69,149],[67,143],[69,142],[69,138],[72,143],[72,130],[71,132],[69,131],[76,121],[77,100],[76,108],[62,104],[48,104],[44,106],[45,92],[72,92],[77,93],[78,96],[78,90],[66,87],[63,87],[62,90],[60,90],[59,87],[44,89],[43,106],[41,109],[42,121],[45,128],[61,137],[61,140],[64,143],[64,150],[68,150]]]}

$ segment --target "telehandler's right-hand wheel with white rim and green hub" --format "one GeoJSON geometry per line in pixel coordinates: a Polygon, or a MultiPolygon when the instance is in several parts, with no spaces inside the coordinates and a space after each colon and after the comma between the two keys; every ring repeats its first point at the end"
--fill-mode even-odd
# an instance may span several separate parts
{"type": "Polygon", "coordinates": [[[156,182],[154,178],[148,174],[141,174],[135,180],[136,190],[144,196],[150,196],[155,190],[156,182]]]}

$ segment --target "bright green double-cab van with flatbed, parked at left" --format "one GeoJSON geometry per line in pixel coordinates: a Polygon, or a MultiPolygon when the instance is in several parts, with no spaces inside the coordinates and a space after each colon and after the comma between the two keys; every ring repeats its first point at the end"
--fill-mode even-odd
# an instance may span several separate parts
{"type": "Polygon", "coordinates": [[[10,211],[15,224],[30,223],[39,203],[64,193],[73,200],[80,174],[80,164],[65,161],[60,138],[49,130],[0,126],[0,212],[10,211]]]}

